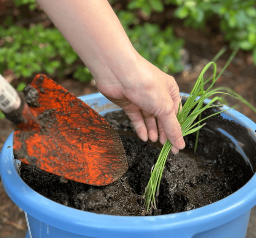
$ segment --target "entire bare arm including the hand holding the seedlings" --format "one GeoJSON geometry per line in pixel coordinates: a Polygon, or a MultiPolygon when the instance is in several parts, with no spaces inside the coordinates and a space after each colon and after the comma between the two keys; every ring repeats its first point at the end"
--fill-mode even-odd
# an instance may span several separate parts
{"type": "Polygon", "coordinates": [[[144,141],[166,138],[184,148],[175,114],[180,95],[169,76],[141,57],[107,0],[37,0],[92,73],[97,87],[121,106],[144,141]]]}

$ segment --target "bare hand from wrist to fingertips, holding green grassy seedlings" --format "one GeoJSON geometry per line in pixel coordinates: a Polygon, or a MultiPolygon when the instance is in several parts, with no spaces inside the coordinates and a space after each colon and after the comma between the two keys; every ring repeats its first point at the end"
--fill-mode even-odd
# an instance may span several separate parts
{"type": "Polygon", "coordinates": [[[138,136],[164,144],[168,138],[173,154],[185,147],[176,118],[180,94],[175,79],[139,56],[127,73],[115,72],[115,78],[97,80],[100,92],[120,106],[132,121],[138,136]],[[135,66],[135,67],[134,67],[135,66]]]}

